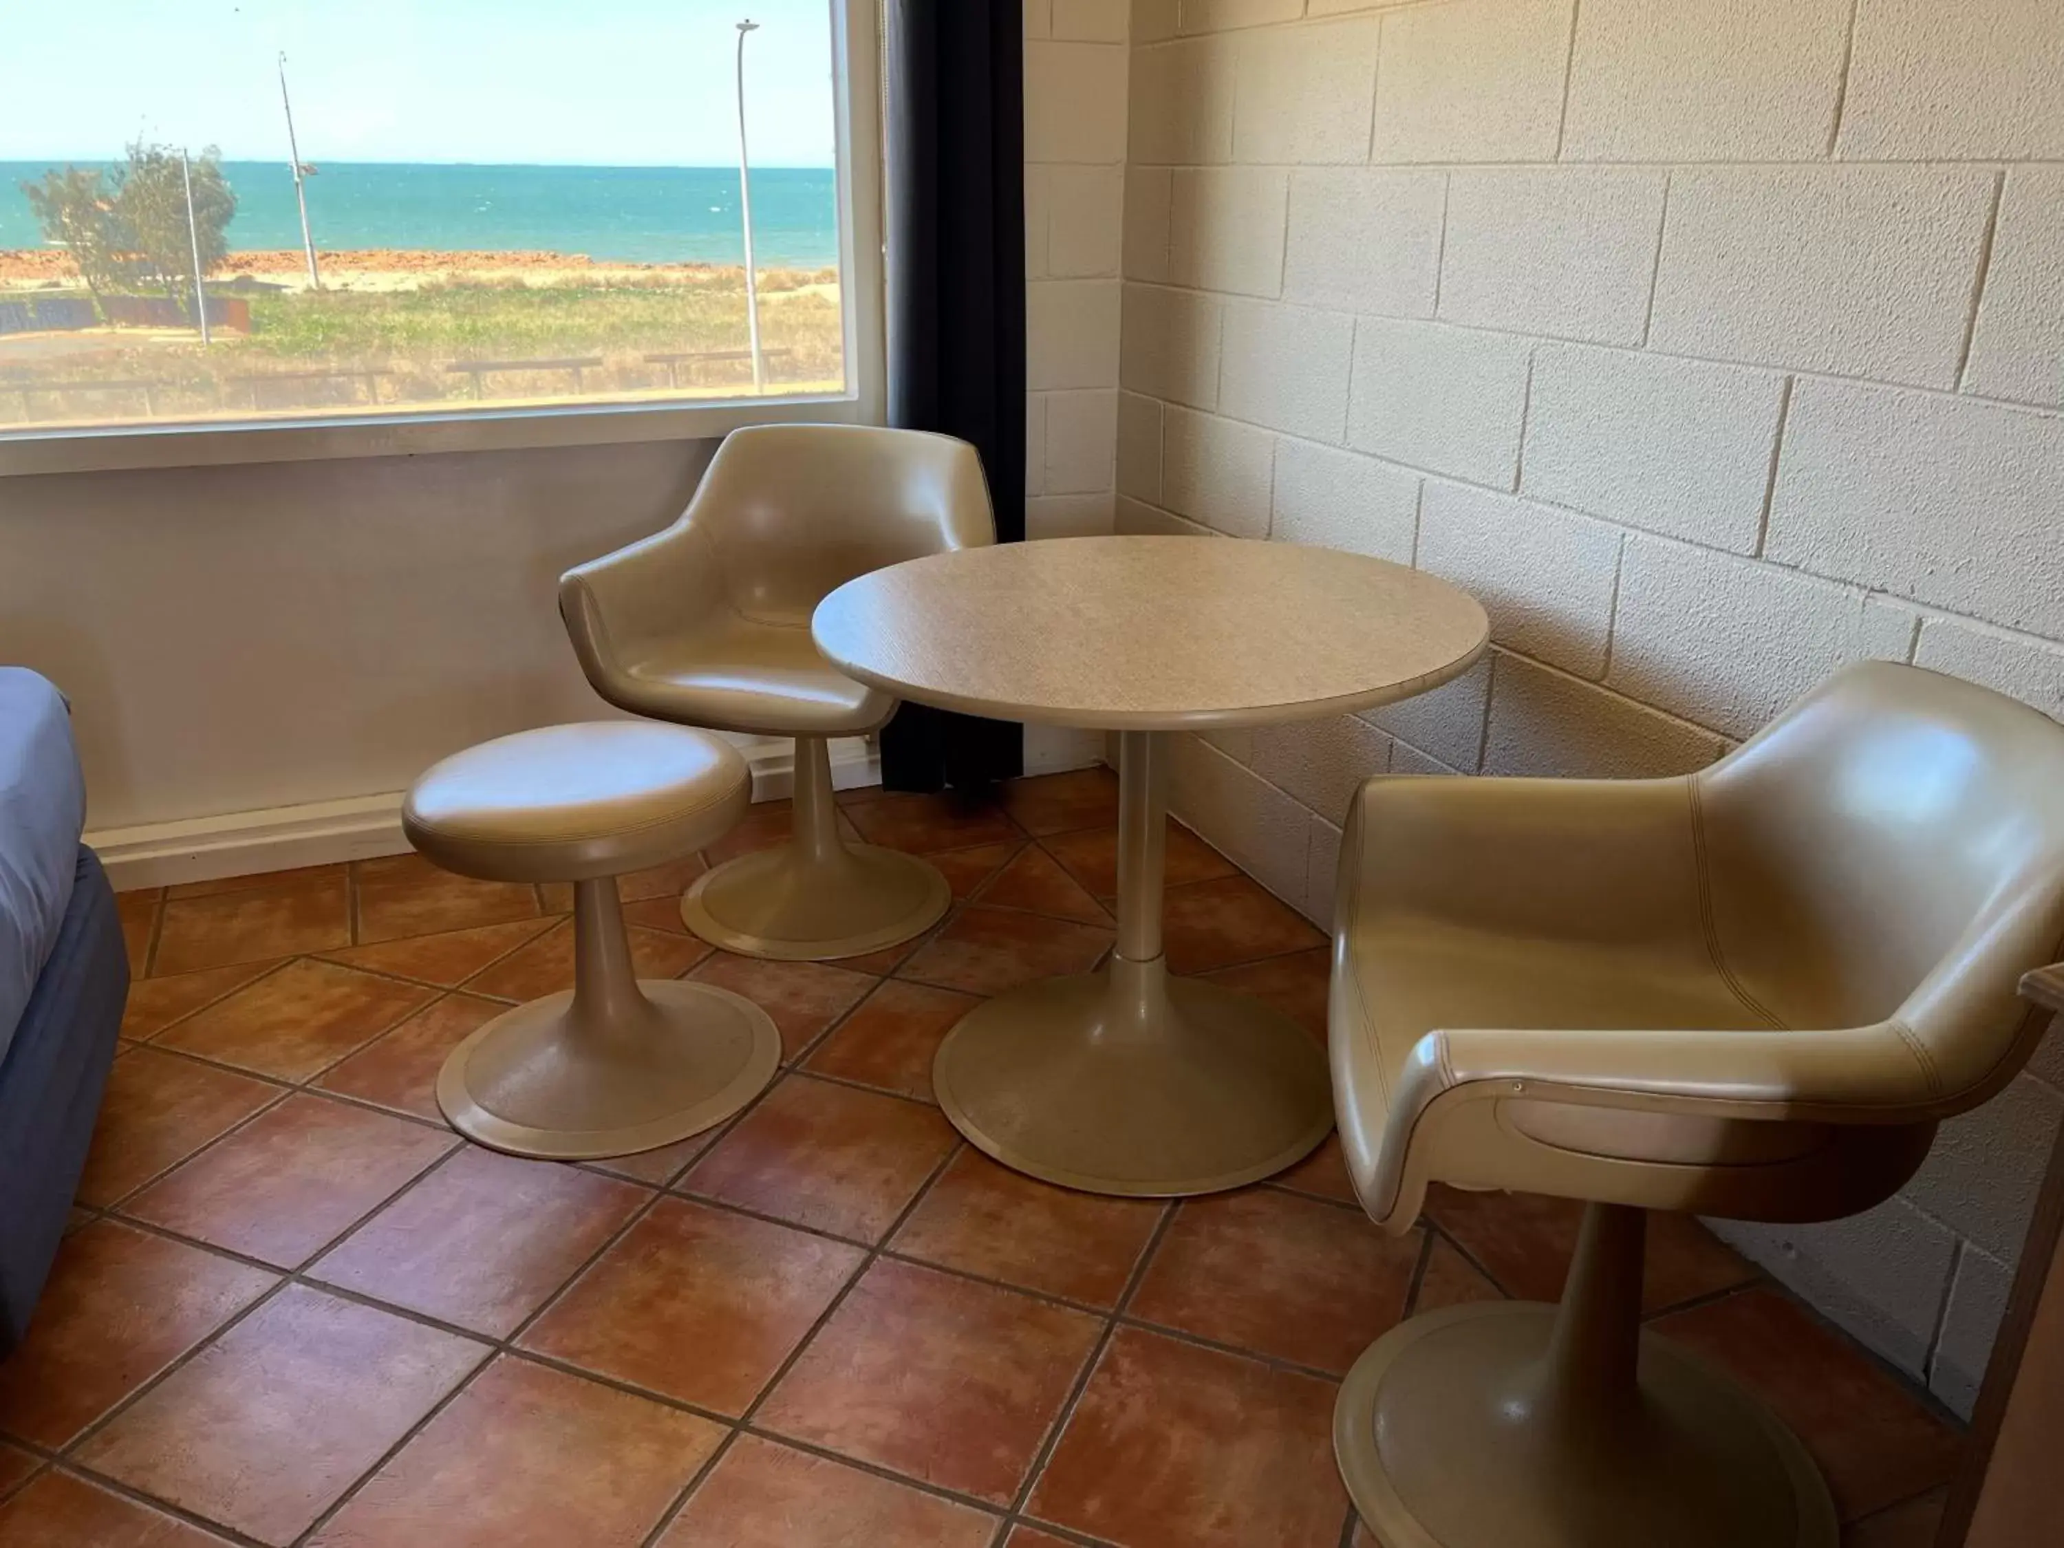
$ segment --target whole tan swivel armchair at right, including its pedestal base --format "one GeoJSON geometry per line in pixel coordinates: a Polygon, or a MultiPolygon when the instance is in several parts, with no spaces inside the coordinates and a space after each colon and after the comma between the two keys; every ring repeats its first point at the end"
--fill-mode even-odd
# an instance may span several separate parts
{"type": "Polygon", "coordinates": [[[1387,1548],[1833,1548],[1800,1443],[1639,1331],[1645,1210],[1833,1220],[1998,1092],[2064,956],[2064,727],[1862,665],[1676,780],[1377,778],[1331,1059],[1370,1218],[1426,1185],[1589,1201],[1560,1309],[1416,1317],[1333,1443],[1387,1548]]]}

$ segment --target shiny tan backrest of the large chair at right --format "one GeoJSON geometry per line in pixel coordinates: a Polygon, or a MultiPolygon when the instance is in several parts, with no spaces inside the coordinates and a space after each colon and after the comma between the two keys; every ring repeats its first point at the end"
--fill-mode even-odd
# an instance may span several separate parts
{"type": "Polygon", "coordinates": [[[2021,972],[2064,954],[2064,727],[1864,663],[1692,791],[1711,945],[1748,997],[1792,1028],[1899,1020],[1944,1096],[1994,1079],[2021,972]]]}

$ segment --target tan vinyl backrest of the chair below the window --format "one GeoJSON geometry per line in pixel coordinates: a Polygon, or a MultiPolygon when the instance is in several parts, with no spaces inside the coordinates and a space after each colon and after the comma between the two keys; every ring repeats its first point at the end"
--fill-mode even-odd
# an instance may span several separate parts
{"type": "Polygon", "coordinates": [[[807,623],[871,570],[997,541],[972,446],[871,425],[735,429],[685,520],[714,535],[731,607],[764,623],[807,623]]]}

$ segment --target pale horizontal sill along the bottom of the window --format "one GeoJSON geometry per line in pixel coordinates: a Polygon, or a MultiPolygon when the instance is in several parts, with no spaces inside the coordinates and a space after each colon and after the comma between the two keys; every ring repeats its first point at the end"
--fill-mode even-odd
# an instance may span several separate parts
{"type": "Polygon", "coordinates": [[[120,429],[0,433],[0,477],[427,456],[533,446],[722,440],[741,425],[871,423],[859,394],[724,402],[580,402],[566,407],[392,413],[120,429]]]}

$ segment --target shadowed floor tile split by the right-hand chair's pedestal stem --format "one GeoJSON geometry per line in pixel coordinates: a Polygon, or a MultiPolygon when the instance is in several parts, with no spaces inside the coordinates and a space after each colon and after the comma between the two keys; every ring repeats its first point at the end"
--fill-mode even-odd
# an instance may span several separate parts
{"type": "MultiPolygon", "coordinates": [[[[1542,1193],[1472,1193],[1434,1183],[1426,1216],[1482,1263],[1505,1294],[1560,1300],[1577,1251],[1583,1205],[1542,1193]]],[[[1756,1278],[1756,1271],[1692,1216],[1651,1210],[1641,1309],[1657,1313],[1756,1278]]]]}

